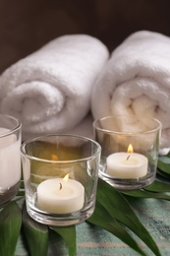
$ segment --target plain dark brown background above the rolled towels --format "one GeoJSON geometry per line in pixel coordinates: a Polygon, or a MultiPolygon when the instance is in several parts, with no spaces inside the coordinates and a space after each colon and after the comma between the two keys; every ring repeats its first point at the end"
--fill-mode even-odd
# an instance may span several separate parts
{"type": "Polygon", "coordinates": [[[91,34],[110,51],[132,32],[170,35],[169,5],[169,0],[0,0],[0,73],[62,34],[91,34]]]}

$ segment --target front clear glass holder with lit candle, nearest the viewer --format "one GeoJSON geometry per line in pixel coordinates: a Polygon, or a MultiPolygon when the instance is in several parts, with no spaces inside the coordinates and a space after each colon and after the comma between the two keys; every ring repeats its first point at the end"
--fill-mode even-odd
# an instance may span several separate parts
{"type": "Polygon", "coordinates": [[[79,224],[95,207],[101,147],[76,135],[47,135],[21,148],[28,215],[35,221],[79,224]]]}

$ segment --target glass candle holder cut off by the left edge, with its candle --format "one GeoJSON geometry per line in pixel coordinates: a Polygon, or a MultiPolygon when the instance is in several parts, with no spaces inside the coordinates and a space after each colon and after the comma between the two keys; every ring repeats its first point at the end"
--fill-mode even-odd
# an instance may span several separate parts
{"type": "Polygon", "coordinates": [[[0,207],[14,198],[20,188],[21,128],[18,119],[0,114],[0,207]]]}

